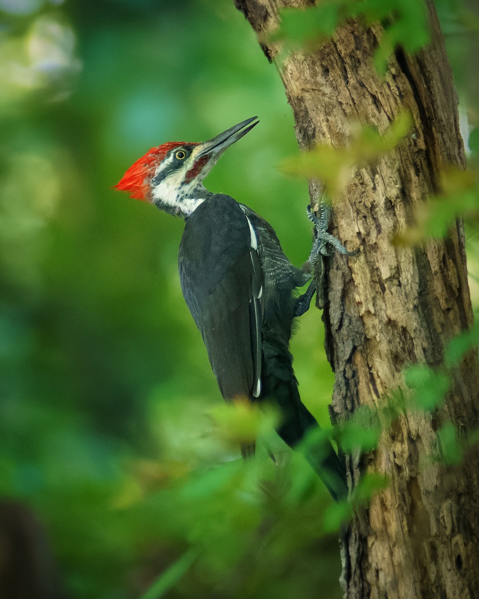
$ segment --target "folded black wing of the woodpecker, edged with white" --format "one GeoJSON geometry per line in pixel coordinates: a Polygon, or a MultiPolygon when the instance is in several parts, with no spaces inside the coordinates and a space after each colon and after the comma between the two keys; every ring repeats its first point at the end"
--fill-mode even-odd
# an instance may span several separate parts
{"type": "Polygon", "coordinates": [[[181,289],[226,400],[260,392],[262,269],[255,241],[238,202],[226,195],[199,205],[181,238],[181,289]]]}

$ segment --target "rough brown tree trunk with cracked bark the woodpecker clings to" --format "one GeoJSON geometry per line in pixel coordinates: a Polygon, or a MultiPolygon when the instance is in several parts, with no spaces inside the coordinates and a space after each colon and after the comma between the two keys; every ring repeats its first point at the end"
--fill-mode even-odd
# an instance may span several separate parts
{"type": "MultiPolygon", "coordinates": [[[[311,4],[236,0],[272,59],[278,47],[265,34],[277,26],[278,9],[311,4]]],[[[428,193],[439,190],[442,168],[465,165],[456,92],[431,0],[427,9],[431,44],[416,56],[398,48],[383,79],[372,66],[383,30],[357,21],[342,25],[316,52],[295,52],[277,65],[301,149],[344,146],[351,120],[383,132],[405,109],[414,119],[413,132],[395,150],[374,168],[357,168],[334,206],[332,232],[348,249],[360,249],[352,258],[336,254],[327,267],[324,319],[339,420],[359,406],[384,406],[391,392],[405,389],[405,367],[440,365],[451,337],[472,325],[462,223],[444,240],[391,243],[428,193]]],[[[441,408],[399,416],[367,465],[348,457],[351,487],[363,471],[387,474],[390,485],[354,516],[346,597],[479,596],[478,456],[469,449],[454,468],[434,461],[438,428],[448,421],[462,439],[478,428],[474,352],[454,370],[441,408]]]]}

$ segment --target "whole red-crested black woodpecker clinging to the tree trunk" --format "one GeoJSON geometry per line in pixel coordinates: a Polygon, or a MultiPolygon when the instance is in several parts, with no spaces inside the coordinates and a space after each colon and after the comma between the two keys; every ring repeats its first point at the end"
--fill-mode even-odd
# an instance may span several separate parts
{"type": "MultiPolygon", "coordinates": [[[[257,123],[257,117],[244,120],[204,143],[173,141],[151,148],[115,187],[184,219],[181,289],[220,392],[226,401],[273,401],[281,413],[277,432],[296,447],[318,426],[299,398],[289,352],[293,318],[308,310],[314,284],[295,297],[310,275],[286,258],[271,225],[251,208],[202,184],[226,148],[257,123]]],[[[327,222],[317,225],[311,257],[326,253],[326,244],[350,253],[326,233],[327,222]]],[[[248,449],[243,447],[243,453],[248,449]]],[[[344,498],[344,470],[329,441],[305,456],[331,495],[344,498]]]]}

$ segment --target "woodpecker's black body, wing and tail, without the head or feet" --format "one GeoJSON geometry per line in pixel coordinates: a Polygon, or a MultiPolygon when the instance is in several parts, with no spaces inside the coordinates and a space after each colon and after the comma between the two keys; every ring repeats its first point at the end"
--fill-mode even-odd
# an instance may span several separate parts
{"type": "MultiPolygon", "coordinates": [[[[307,275],[290,264],[271,225],[226,195],[211,195],[186,220],[178,264],[223,397],[273,401],[281,414],[277,432],[296,447],[317,427],[299,397],[289,352],[293,292],[307,275]]],[[[345,497],[344,471],[329,441],[305,456],[333,497],[345,497]]]]}

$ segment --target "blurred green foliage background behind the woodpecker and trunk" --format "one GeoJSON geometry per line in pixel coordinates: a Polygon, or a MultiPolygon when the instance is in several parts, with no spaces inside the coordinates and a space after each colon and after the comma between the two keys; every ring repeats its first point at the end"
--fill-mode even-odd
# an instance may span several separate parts
{"type": "MultiPolygon", "coordinates": [[[[474,108],[458,6],[441,15],[474,108]]],[[[244,464],[218,434],[181,221],[111,189],[151,146],[257,114],[207,186],[300,265],[307,185],[277,169],[296,142],[275,68],[230,0],[0,0],[0,16],[0,494],[43,522],[75,599],[339,597],[337,508],[308,466],[267,415],[278,465],[265,447],[244,464]]],[[[311,310],[292,348],[328,428],[322,335],[311,310]]]]}

